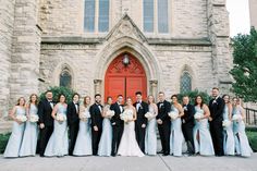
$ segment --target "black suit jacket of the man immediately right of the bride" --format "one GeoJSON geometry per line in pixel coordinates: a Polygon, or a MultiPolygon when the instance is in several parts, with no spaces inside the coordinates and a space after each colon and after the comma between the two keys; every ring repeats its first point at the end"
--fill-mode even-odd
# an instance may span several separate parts
{"type": "MultiPolygon", "coordinates": [[[[134,103],[134,107],[136,108],[137,102],[134,103]]],[[[138,108],[138,111],[136,109],[136,124],[137,125],[142,125],[142,124],[147,124],[147,118],[145,117],[145,114],[149,111],[149,107],[148,103],[146,103],[145,101],[140,102],[140,106],[138,108]]]]}

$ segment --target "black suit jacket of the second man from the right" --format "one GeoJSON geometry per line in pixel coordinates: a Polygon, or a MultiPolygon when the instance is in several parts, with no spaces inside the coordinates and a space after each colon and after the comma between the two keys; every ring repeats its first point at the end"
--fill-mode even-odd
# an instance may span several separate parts
{"type": "Polygon", "coordinates": [[[195,107],[193,105],[188,103],[187,106],[183,105],[183,108],[184,108],[184,115],[182,117],[182,120],[184,120],[183,124],[194,126],[194,124],[195,124],[194,123],[195,122],[195,119],[194,119],[195,107]]]}

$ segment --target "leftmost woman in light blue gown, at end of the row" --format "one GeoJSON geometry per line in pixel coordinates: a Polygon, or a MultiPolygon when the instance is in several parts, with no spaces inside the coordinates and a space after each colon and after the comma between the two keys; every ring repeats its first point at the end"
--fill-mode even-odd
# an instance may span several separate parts
{"type": "Polygon", "coordinates": [[[21,121],[16,117],[26,117],[25,102],[25,98],[19,98],[17,105],[13,107],[12,111],[10,112],[10,118],[14,121],[14,123],[12,127],[12,134],[8,141],[8,145],[3,154],[3,157],[5,158],[19,157],[25,127],[25,121],[21,121]]]}

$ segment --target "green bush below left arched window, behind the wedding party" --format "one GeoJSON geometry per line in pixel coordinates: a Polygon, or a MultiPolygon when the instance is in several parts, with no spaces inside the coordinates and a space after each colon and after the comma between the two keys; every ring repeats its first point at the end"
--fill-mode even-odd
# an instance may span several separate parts
{"type": "MultiPolygon", "coordinates": [[[[70,89],[68,87],[50,87],[49,90],[53,94],[53,101],[59,101],[58,97],[60,94],[64,94],[66,96],[66,102],[72,101],[72,96],[74,94],[73,89],[70,89]]],[[[41,93],[39,98],[42,100],[46,97],[46,93],[41,93]]]]}

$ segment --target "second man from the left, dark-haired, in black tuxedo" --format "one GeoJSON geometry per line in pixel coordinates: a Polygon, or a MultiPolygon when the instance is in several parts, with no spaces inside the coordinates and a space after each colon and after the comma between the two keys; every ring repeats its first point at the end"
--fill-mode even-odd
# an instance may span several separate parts
{"type": "Polygon", "coordinates": [[[69,155],[73,155],[73,149],[76,143],[78,126],[79,126],[79,95],[74,94],[72,97],[73,101],[68,105],[66,108],[66,118],[68,118],[68,126],[70,133],[70,146],[69,146],[69,155]]]}

